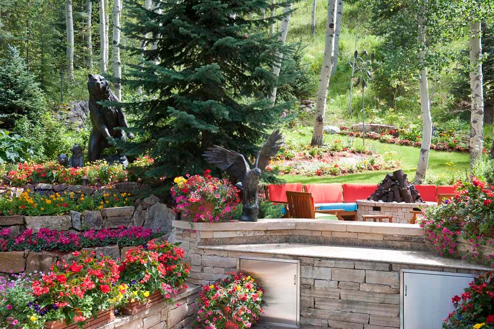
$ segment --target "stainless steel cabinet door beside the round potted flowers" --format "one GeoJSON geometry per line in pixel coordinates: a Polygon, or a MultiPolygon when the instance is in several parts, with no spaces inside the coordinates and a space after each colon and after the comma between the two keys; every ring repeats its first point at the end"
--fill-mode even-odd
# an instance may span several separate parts
{"type": "Polygon", "coordinates": [[[298,325],[299,262],[285,259],[239,260],[239,270],[259,281],[264,290],[261,321],[298,325]]]}

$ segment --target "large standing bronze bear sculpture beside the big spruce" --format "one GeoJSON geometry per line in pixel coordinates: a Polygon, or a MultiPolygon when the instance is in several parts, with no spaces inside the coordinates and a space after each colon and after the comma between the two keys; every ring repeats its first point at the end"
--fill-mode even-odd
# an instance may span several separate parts
{"type": "MultiPolygon", "coordinates": [[[[110,82],[99,74],[89,74],[87,89],[89,91],[89,117],[91,119],[92,130],[89,137],[88,160],[93,162],[102,159],[101,153],[104,149],[110,148],[117,144],[117,140],[126,141],[127,136],[122,129],[117,127],[129,128],[125,119],[125,113],[120,107],[104,107],[98,102],[120,100],[110,89],[110,82]]],[[[128,134],[129,138],[134,138],[132,133],[128,134]]],[[[120,150],[119,150],[120,152],[120,150]]],[[[120,159],[125,156],[120,156],[120,159]]]]}

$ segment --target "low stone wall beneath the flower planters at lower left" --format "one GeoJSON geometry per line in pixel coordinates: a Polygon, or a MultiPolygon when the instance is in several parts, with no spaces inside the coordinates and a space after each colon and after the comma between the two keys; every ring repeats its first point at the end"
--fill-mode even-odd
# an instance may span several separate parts
{"type": "Polygon", "coordinates": [[[117,316],[100,329],[181,329],[189,328],[199,287],[189,288],[176,302],[160,304],[132,316],[117,316]]]}

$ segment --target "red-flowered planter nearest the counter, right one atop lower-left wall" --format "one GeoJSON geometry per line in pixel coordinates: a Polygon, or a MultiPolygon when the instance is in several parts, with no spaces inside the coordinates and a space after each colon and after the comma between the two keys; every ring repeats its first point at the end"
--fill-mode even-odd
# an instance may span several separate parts
{"type": "Polygon", "coordinates": [[[155,240],[129,249],[118,267],[120,280],[128,286],[125,297],[129,301],[120,312],[136,314],[158,303],[169,302],[180,289],[185,290],[190,265],[182,263],[183,256],[184,251],[178,244],[155,240]]]}

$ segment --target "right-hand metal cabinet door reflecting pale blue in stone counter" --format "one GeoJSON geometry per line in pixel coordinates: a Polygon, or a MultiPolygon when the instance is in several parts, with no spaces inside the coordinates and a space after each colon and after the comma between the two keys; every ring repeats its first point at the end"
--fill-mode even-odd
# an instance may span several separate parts
{"type": "Polygon", "coordinates": [[[451,299],[461,295],[474,275],[403,270],[403,329],[441,329],[454,308],[451,299]]]}

